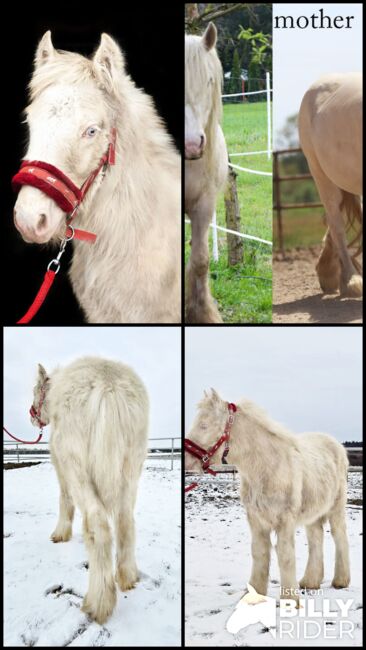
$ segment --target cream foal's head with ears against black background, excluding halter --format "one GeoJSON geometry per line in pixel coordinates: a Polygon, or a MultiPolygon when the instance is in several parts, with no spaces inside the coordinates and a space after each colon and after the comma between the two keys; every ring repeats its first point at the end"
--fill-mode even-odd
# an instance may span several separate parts
{"type": "MultiPolygon", "coordinates": [[[[48,31],[35,56],[30,82],[26,160],[57,167],[80,187],[108,149],[123,55],[107,34],[92,59],[55,50],[48,31]]],[[[14,222],[27,242],[63,235],[65,213],[36,187],[23,186],[14,222]]]]}

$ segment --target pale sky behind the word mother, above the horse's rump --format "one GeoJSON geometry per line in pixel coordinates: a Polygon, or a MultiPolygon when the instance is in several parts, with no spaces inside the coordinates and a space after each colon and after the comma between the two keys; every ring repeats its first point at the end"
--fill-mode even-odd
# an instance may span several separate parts
{"type": "MultiPolygon", "coordinates": [[[[273,29],[273,132],[298,113],[309,86],[329,72],[362,70],[361,3],[274,4],[273,16],[355,16],[351,29],[273,29]]],[[[275,140],[276,146],[276,140],[275,140]]]]}

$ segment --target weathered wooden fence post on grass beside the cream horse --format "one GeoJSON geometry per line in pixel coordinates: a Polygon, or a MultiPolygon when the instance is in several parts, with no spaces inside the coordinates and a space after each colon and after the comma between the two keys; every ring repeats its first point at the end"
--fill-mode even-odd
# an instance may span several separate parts
{"type": "MultiPolygon", "coordinates": [[[[229,167],[228,183],[225,191],[226,227],[240,232],[240,206],[236,187],[237,173],[229,167]]],[[[244,244],[242,237],[227,233],[229,266],[243,263],[244,244]]]]}

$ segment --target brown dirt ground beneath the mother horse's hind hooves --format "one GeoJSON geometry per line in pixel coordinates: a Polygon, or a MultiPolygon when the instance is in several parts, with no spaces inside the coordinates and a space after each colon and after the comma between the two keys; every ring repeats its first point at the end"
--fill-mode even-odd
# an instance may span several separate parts
{"type": "Polygon", "coordinates": [[[315,264],[320,247],[273,256],[273,323],[362,323],[362,299],[325,296],[315,264]]]}

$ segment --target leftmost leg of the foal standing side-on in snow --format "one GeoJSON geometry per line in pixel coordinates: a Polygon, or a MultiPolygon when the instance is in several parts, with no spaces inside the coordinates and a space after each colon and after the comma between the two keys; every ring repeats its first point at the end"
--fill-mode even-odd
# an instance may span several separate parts
{"type": "Polygon", "coordinates": [[[257,593],[267,594],[269,564],[271,556],[270,529],[264,528],[257,519],[248,513],[248,521],[252,533],[252,573],[249,583],[257,593]]]}

